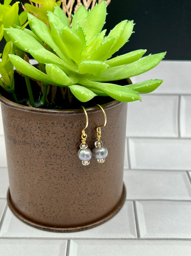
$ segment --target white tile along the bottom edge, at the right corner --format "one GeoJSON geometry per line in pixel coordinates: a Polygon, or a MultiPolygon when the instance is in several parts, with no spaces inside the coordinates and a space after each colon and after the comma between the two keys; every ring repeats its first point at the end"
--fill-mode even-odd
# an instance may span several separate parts
{"type": "Polygon", "coordinates": [[[190,241],[72,240],[69,256],[190,256],[190,241]]]}

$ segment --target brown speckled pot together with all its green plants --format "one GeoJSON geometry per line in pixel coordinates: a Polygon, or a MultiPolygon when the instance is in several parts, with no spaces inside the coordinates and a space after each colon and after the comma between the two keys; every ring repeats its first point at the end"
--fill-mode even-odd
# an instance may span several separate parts
{"type": "Polygon", "coordinates": [[[63,11],[61,2],[35,0],[20,15],[18,3],[10,6],[5,0],[0,5],[0,37],[7,41],[0,100],[8,204],[25,223],[55,232],[97,226],[123,205],[126,102],[141,100],[139,93],[162,83],[132,84],[128,78],[154,68],[165,55],[142,57],[146,50],[140,49],[112,58],[132,34],[133,21],[120,22],[106,36],[102,28],[109,1],[73,2],[63,0],[63,11]],[[77,154],[86,118],[86,142],[92,150],[104,114],[101,138],[108,156],[105,163],[91,158],[84,166],[77,154]]]}

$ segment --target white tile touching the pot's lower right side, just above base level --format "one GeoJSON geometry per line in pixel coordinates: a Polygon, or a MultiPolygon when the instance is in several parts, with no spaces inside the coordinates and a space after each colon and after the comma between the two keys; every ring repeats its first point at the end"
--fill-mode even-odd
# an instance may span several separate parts
{"type": "Polygon", "coordinates": [[[126,170],[127,199],[191,199],[186,172],[126,170]]]}

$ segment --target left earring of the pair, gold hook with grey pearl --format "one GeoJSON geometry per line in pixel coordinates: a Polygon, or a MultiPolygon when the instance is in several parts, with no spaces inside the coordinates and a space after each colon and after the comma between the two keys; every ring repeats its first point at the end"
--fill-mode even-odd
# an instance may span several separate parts
{"type": "Polygon", "coordinates": [[[82,129],[82,136],[81,136],[81,144],[80,144],[80,150],[78,151],[78,157],[80,158],[80,160],[82,161],[82,165],[89,165],[90,164],[90,159],[92,157],[92,152],[91,150],[88,148],[87,144],[86,144],[86,139],[87,139],[87,134],[85,133],[85,129],[88,126],[88,116],[87,116],[87,112],[86,109],[82,106],[85,115],[86,115],[86,127],[82,129]]]}

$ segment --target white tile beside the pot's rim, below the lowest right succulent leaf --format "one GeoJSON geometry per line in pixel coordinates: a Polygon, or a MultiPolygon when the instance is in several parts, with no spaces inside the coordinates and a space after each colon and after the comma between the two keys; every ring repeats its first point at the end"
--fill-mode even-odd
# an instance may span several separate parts
{"type": "Polygon", "coordinates": [[[177,137],[178,96],[142,95],[128,103],[126,136],[177,137]]]}

